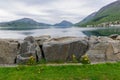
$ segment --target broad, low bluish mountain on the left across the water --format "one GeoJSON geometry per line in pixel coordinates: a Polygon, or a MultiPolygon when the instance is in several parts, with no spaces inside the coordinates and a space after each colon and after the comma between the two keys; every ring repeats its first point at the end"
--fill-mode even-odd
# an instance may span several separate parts
{"type": "Polygon", "coordinates": [[[33,26],[43,27],[43,26],[50,26],[50,24],[39,23],[30,18],[22,18],[22,19],[10,21],[10,22],[2,22],[0,23],[0,26],[2,27],[33,27],[33,26]]]}

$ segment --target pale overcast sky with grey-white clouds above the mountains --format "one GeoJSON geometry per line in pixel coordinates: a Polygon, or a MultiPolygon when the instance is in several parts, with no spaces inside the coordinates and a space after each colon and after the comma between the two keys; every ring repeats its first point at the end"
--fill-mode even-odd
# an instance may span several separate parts
{"type": "Polygon", "coordinates": [[[116,0],[0,0],[0,22],[32,18],[38,22],[79,22],[116,0]]]}

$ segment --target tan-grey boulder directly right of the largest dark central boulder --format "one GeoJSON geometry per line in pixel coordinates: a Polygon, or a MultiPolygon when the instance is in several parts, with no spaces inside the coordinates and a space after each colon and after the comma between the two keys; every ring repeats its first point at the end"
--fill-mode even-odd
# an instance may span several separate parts
{"type": "Polygon", "coordinates": [[[108,48],[109,43],[100,42],[94,44],[87,52],[91,62],[105,62],[106,61],[106,49],[108,48]]]}

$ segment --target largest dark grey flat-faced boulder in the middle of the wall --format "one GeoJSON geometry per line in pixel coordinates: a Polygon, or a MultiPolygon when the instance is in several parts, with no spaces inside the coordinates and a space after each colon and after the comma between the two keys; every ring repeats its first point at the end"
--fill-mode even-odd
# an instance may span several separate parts
{"type": "Polygon", "coordinates": [[[70,61],[72,56],[79,60],[88,49],[87,41],[75,37],[54,38],[43,43],[42,46],[46,61],[70,61]]]}

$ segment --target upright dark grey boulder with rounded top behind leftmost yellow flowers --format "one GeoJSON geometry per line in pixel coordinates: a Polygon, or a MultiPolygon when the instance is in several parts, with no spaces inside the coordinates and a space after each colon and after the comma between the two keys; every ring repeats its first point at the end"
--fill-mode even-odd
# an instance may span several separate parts
{"type": "Polygon", "coordinates": [[[31,57],[34,57],[36,62],[42,58],[39,45],[32,36],[28,36],[20,43],[16,63],[26,64],[31,57]]]}

